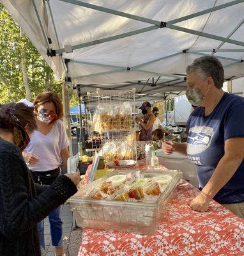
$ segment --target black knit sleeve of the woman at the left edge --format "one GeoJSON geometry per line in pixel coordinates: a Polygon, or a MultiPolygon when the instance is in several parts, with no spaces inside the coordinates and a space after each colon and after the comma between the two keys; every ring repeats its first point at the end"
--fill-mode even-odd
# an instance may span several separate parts
{"type": "Polygon", "coordinates": [[[28,170],[19,152],[0,154],[0,233],[20,236],[76,193],[72,180],[61,175],[40,195],[30,198],[28,170]]]}

